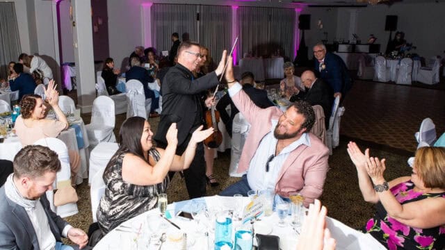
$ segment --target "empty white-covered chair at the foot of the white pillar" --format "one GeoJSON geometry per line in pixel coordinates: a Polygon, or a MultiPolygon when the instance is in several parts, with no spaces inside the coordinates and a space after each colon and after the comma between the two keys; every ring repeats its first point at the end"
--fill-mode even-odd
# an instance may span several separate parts
{"type": "Polygon", "coordinates": [[[86,125],[90,147],[99,142],[116,142],[114,126],[114,101],[110,97],[97,97],[92,103],[91,123],[86,125]]]}

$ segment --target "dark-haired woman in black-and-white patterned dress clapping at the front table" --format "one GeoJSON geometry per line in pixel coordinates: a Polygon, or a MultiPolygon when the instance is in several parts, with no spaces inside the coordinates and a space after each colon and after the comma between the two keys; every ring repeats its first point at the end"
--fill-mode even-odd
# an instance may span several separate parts
{"type": "Polygon", "coordinates": [[[150,124],[142,117],[130,117],[119,132],[120,146],[104,171],[105,194],[97,210],[97,222],[104,234],[122,222],[156,208],[157,195],[167,191],[168,171],[188,169],[196,145],[213,133],[197,128],[182,156],[176,156],[177,128],[173,123],[165,149],[153,147],[150,124]]]}

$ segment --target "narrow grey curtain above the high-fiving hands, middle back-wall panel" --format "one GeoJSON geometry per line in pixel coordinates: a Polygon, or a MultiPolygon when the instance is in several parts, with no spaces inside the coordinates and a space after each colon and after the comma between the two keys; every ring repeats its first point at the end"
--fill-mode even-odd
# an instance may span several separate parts
{"type": "Polygon", "coordinates": [[[200,6],[200,44],[208,47],[210,56],[218,63],[224,49],[232,46],[232,7],[200,6]]]}

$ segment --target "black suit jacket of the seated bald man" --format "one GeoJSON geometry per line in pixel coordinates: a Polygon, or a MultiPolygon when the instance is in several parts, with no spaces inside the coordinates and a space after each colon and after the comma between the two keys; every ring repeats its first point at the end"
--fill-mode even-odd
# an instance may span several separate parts
{"type": "Polygon", "coordinates": [[[325,124],[329,126],[329,117],[331,115],[332,103],[334,102],[334,93],[330,85],[325,83],[323,79],[317,78],[310,89],[306,88],[305,92],[300,91],[297,95],[291,97],[290,101],[296,100],[307,101],[312,106],[320,105],[325,113],[325,124]]]}

